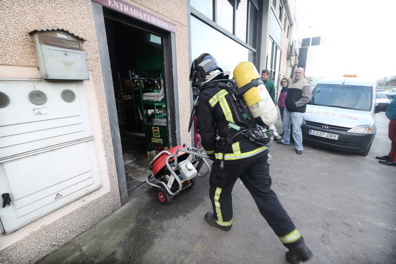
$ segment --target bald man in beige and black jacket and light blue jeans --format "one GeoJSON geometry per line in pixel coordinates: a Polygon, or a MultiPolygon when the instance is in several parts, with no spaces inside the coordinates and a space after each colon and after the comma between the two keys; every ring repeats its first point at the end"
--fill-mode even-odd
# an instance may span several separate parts
{"type": "Polygon", "coordinates": [[[304,69],[297,68],[294,78],[287,87],[286,108],[283,113],[283,138],[278,144],[290,144],[290,125],[293,124],[293,139],[297,154],[303,154],[301,125],[307,103],[311,98],[311,84],[304,78],[304,69]]]}

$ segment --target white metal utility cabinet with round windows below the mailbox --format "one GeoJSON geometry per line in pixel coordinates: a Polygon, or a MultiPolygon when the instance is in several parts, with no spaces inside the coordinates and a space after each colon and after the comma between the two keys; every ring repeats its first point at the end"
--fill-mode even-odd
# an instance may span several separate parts
{"type": "Polygon", "coordinates": [[[84,83],[0,81],[0,196],[11,198],[0,206],[4,231],[100,186],[84,83]]]}

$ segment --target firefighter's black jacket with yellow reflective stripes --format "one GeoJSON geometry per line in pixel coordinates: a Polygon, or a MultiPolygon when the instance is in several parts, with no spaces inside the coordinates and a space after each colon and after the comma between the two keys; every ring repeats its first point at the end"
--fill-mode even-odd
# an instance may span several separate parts
{"type": "Polygon", "coordinates": [[[232,100],[232,95],[226,89],[219,87],[208,87],[200,92],[197,125],[206,153],[214,154],[216,161],[224,160],[226,164],[240,163],[268,154],[266,146],[251,142],[242,134],[232,140],[232,144],[229,144],[227,150],[225,150],[225,144],[216,140],[216,133],[223,139],[231,139],[241,129],[244,129],[242,124],[235,121],[235,116],[242,114],[232,112],[232,107],[230,107],[232,100]],[[224,156],[223,153],[225,153],[224,156]]]}

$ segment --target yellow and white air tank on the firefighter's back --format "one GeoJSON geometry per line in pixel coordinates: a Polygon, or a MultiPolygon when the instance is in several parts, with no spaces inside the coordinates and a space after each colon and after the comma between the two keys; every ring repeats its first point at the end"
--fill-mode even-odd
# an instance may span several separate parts
{"type": "MultiPolygon", "coordinates": [[[[244,61],[236,65],[233,74],[238,88],[261,77],[256,67],[250,61],[244,61]]],[[[243,94],[243,97],[252,116],[254,118],[261,118],[261,120],[268,125],[268,129],[274,136],[275,141],[280,140],[281,137],[276,132],[275,127],[275,122],[278,120],[278,111],[265,85],[259,84],[258,86],[252,87],[243,94]]]]}

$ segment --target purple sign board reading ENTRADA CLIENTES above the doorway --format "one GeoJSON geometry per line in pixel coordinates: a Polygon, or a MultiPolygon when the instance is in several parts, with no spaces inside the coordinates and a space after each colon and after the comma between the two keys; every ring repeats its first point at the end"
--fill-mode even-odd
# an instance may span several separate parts
{"type": "Polygon", "coordinates": [[[156,17],[155,15],[146,13],[145,11],[139,8],[135,8],[125,2],[118,0],[92,0],[92,1],[103,4],[104,6],[108,6],[109,8],[115,9],[117,11],[130,15],[131,17],[135,17],[137,19],[150,23],[154,26],[163,28],[171,32],[175,32],[176,29],[175,25],[156,17]]]}

